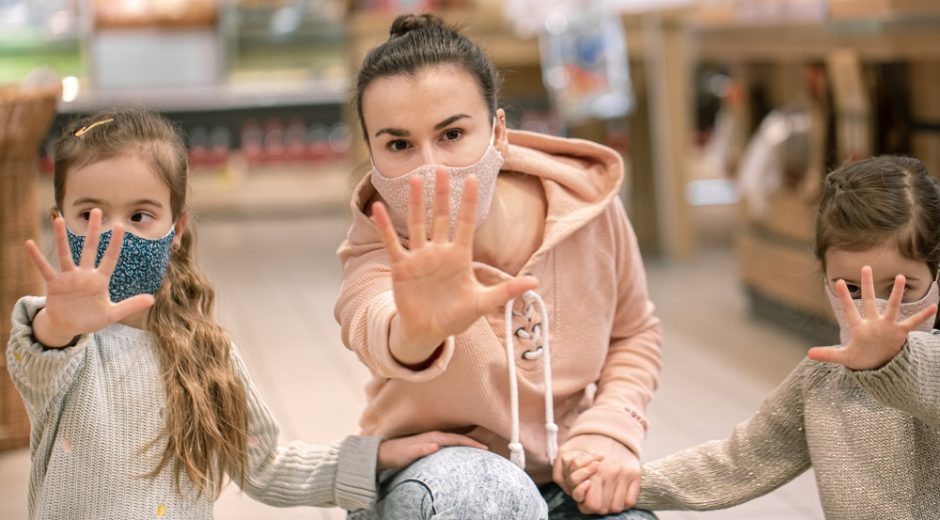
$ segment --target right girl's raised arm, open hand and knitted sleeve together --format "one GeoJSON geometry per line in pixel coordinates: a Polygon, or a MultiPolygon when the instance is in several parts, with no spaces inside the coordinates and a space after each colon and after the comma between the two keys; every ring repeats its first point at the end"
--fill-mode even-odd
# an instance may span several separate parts
{"type": "Polygon", "coordinates": [[[875,303],[870,267],[862,268],[861,281],[864,317],[852,304],[845,282],[836,282],[852,340],[843,347],[816,347],[809,357],[845,365],[859,385],[884,405],[940,428],[940,336],[913,332],[934,319],[937,306],[898,321],[904,276],[895,278],[883,313],[875,303]]]}

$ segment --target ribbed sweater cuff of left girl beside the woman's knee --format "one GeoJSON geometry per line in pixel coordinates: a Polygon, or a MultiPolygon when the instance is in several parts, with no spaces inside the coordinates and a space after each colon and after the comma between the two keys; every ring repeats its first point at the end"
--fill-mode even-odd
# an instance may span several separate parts
{"type": "Polygon", "coordinates": [[[381,437],[347,437],[336,468],[336,505],[352,511],[375,500],[376,465],[381,437]]]}

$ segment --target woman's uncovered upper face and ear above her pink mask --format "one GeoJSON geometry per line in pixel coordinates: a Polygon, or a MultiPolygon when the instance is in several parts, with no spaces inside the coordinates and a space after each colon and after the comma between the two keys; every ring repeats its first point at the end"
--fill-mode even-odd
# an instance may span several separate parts
{"type": "MultiPolygon", "coordinates": [[[[425,164],[461,167],[483,157],[493,119],[476,80],[456,66],[377,78],[362,93],[362,117],[376,169],[400,177],[425,164]]],[[[496,113],[496,145],[506,146],[496,113]]]]}

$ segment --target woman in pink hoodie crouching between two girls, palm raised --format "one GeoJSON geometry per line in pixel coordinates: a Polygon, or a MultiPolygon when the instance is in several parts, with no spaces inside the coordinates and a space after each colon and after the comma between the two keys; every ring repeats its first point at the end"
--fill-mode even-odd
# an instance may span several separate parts
{"type": "Polygon", "coordinates": [[[507,130],[489,59],[439,19],[401,16],[390,33],[358,74],[372,171],[339,250],[336,317],[374,375],[361,424],[461,432],[489,452],[447,448],[384,475],[373,510],[351,517],[650,518],[623,512],[660,329],[620,156],[507,130]],[[580,503],[576,471],[591,474],[580,503]]]}

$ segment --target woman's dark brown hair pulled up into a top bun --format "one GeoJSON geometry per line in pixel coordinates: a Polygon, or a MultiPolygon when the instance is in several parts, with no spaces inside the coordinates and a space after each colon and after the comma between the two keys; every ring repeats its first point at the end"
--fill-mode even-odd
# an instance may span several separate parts
{"type": "Polygon", "coordinates": [[[483,49],[445,26],[434,15],[404,14],[392,22],[388,40],[369,51],[356,77],[354,99],[366,142],[369,142],[369,135],[362,117],[362,94],[366,87],[377,78],[413,76],[437,65],[455,65],[470,73],[480,88],[490,116],[496,115],[500,77],[483,49]]]}

